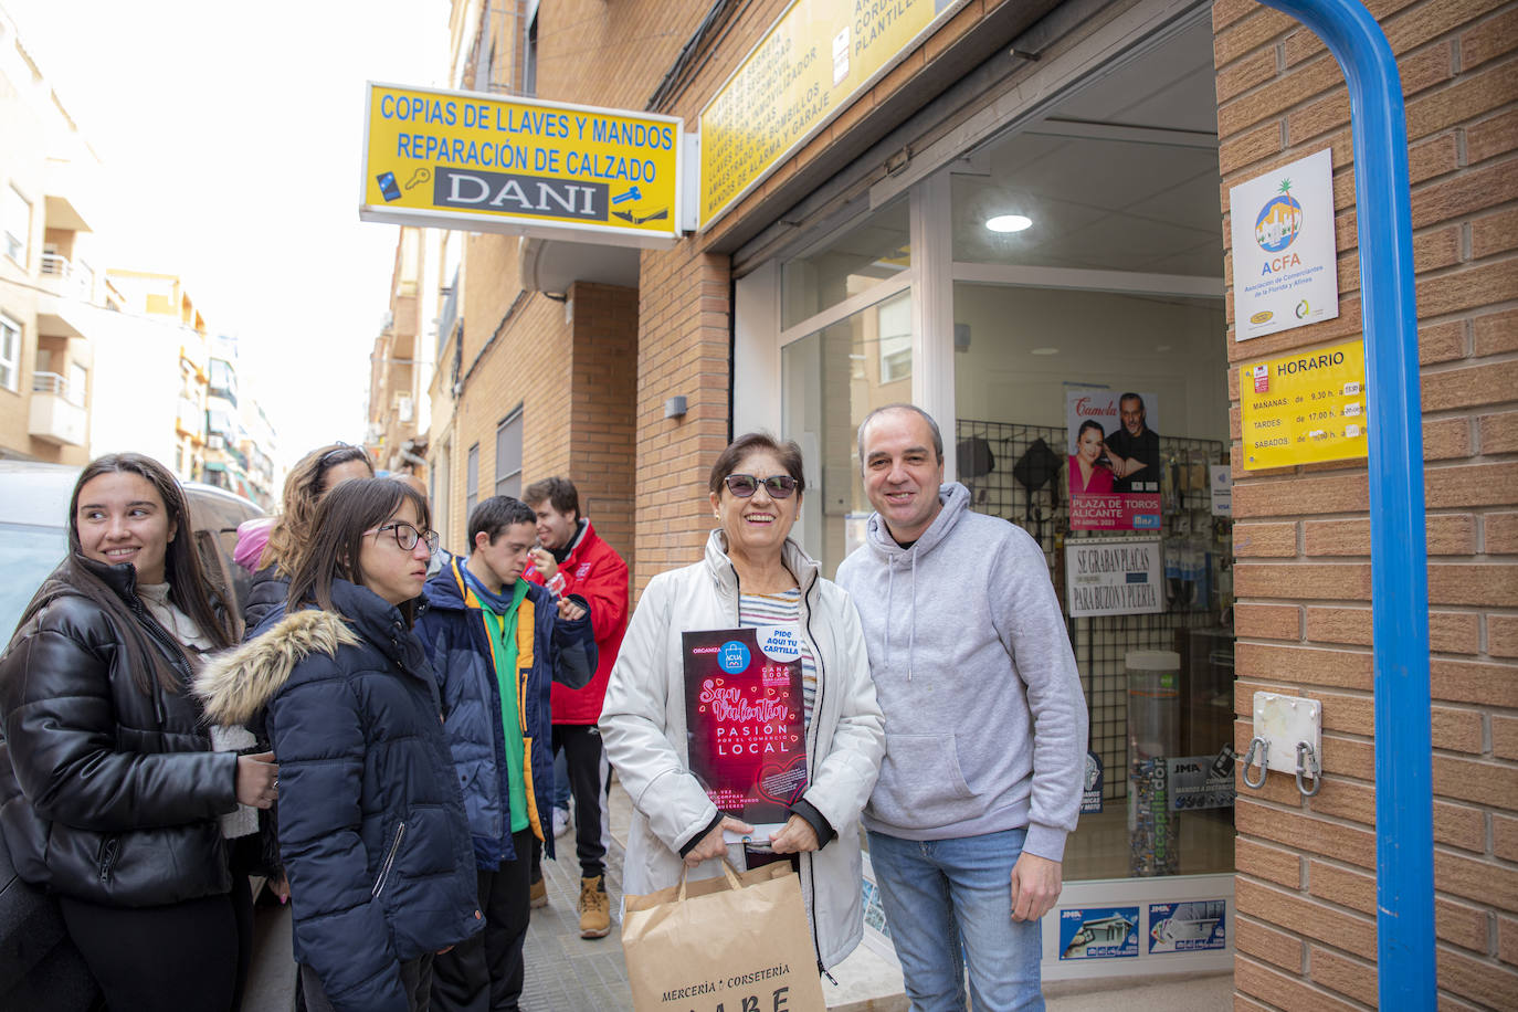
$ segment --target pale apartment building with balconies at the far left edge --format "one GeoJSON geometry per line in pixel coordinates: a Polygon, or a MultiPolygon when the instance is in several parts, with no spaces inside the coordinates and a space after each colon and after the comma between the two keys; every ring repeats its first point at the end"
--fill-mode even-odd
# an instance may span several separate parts
{"type": "Polygon", "coordinates": [[[0,11],[0,457],[90,458],[100,161],[0,11]]]}

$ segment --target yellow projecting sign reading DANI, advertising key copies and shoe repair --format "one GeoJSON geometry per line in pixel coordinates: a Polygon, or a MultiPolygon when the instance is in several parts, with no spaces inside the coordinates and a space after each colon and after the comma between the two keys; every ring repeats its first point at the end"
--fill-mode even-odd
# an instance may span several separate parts
{"type": "Polygon", "coordinates": [[[680,120],[370,82],[358,217],[621,246],[679,235],[680,120]]]}

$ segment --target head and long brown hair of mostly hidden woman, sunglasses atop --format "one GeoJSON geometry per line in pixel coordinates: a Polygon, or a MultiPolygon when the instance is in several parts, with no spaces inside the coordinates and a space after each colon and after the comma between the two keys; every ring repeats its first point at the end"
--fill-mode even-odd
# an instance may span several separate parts
{"type": "Polygon", "coordinates": [[[298,555],[311,543],[322,496],[345,481],[373,476],[373,463],[363,446],[319,446],[285,475],[279,516],[247,520],[237,528],[234,557],[254,574],[247,601],[243,602],[249,636],[284,607],[298,555]]]}

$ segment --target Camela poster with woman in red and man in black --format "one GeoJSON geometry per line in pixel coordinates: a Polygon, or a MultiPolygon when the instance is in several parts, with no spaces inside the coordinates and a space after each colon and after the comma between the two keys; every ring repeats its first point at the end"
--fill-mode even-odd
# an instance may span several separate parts
{"type": "Polygon", "coordinates": [[[1072,531],[1160,530],[1158,398],[1075,388],[1066,393],[1072,531]]]}

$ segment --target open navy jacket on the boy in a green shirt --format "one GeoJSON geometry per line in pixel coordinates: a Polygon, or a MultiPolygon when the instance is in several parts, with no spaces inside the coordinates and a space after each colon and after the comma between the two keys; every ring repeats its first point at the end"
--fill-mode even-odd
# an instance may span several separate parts
{"type": "MultiPolygon", "coordinates": [[[[516,857],[512,845],[512,812],[505,766],[505,734],[501,728],[501,683],[495,674],[490,633],[480,599],[465,584],[463,558],[454,558],[427,581],[427,610],[416,621],[427,654],[437,672],[443,699],[448,743],[463,787],[469,831],[480,868],[495,869],[516,857]]],[[[574,622],[559,618],[554,598],[537,584],[527,584],[527,596],[516,619],[516,671],[512,687],[521,710],[522,740],[527,745],[533,834],[554,856],[550,804],[554,797],[553,725],[548,687],[559,681],[578,689],[595,674],[595,634],[584,598],[569,595],[586,607],[574,622]]]]}

